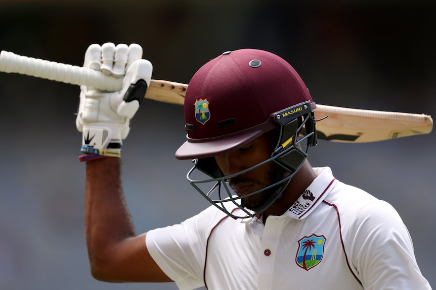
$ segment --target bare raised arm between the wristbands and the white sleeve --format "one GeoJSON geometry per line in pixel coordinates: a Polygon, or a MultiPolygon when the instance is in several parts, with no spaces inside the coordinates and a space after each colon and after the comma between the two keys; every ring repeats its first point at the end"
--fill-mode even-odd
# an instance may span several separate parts
{"type": "Polygon", "coordinates": [[[137,236],[121,188],[121,161],[86,162],[85,237],[91,273],[108,282],[171,281],[137,236]]]}

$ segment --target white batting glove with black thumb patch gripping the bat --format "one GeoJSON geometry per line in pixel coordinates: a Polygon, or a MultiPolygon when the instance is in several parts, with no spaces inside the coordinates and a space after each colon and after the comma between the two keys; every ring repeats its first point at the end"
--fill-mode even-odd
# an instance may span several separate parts
{"type": "Polygon", "coordinates": [[[130,119],[137,112],[150,85],[152,65],[142,59],[138,44],[92,44],[85,52],[83,67],[124,78],[116,92],[80,87],[76,127],[82,132],[81,161],[100,156],[120,157],[122,140],[130,130],[130,119]]]}

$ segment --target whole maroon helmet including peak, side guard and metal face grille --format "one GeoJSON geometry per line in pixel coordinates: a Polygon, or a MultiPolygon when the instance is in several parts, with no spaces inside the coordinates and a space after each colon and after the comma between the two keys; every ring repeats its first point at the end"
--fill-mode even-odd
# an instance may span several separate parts
{"type": "Polygon", "coordinates": [[[177,150],[176,158],[195,159],[188,181],[233,218],[253,217],[274,203],[307,158],[309,146],[316,144],[312,111],[316,105],[309,90],[285,60],[268,51],[227,51],[209,61],[192,77],[184,107],[187,141],[177,150]],[[306,134],[298,139],[304,127],[306,134]],[[271,158],[223,175],[213,156],[238,149],[274,129],[278,129],[278,134],[272,142],[277,145],[271,158]],[[305,151],[297,146],[304,140],[308,144],[305,151]],[[228,179],[267,162],[274,162],[285,172],[270,186],[238,196],[228,185],[228,179]],[[192,179],[195,170],[205,173],[208,179],[192,179]],[[205,183],[212,183],[210,190],[200,189],[205,183]],[[266,190],[271,194],[263,205],[254,209],[241,205],[241,199],[266,190]],[[242,210],[241,214],[231,213],[235,206],[242,210]]]}

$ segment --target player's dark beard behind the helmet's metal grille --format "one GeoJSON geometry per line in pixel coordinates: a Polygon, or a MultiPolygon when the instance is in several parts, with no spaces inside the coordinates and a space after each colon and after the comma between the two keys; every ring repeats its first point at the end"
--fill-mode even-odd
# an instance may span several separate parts
{"type": "MultiPolygon", "coordinates": [[[[278,183],[281,180],[283,180],[286,176],[289,176],[290,172],[285,171],[281,167],[273,164],[270,166],[270,168],[265,173],[265,180],[264,182],[260,182],[258,180],[253,179],[247,179],[244,177],[236,176],[232,180],[232,184],[237,183],[243,183],[243,182],[249,182],[254,185],[261,186],[263,188],[270,186],[272,184],[278,183]]],[[[279,183],[276,186],[273,186],[272,188],[266,189],[264,191],[258,192],[252,196],[248,196],[244,198],[242,196],[241,198],[241,206],[252,210],[256,213],[261,213],[262,211],[266,210],[270,203],[273,202],[273,200],[277,200],[280,198],[282,193],[282,187],[283,183],[279,183]]],[[[236,192],[236,191],[235,191],[236,192]]],[[[236,192],[237,193],[237,192],[236,192]]],[[[240,195],[239,195],[240,196],[240,195]]]]}

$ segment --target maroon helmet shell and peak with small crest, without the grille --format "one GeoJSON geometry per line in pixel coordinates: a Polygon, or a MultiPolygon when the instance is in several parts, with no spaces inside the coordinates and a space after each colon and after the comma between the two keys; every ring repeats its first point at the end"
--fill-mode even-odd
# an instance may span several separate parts
{"type": "Polygon", "coordinates": [[[202,66],[185,96],[178,159],[227,153],[277,127],[274,113],[312,97],[297,72],[264,50],[227,51],[202,66]]]}

